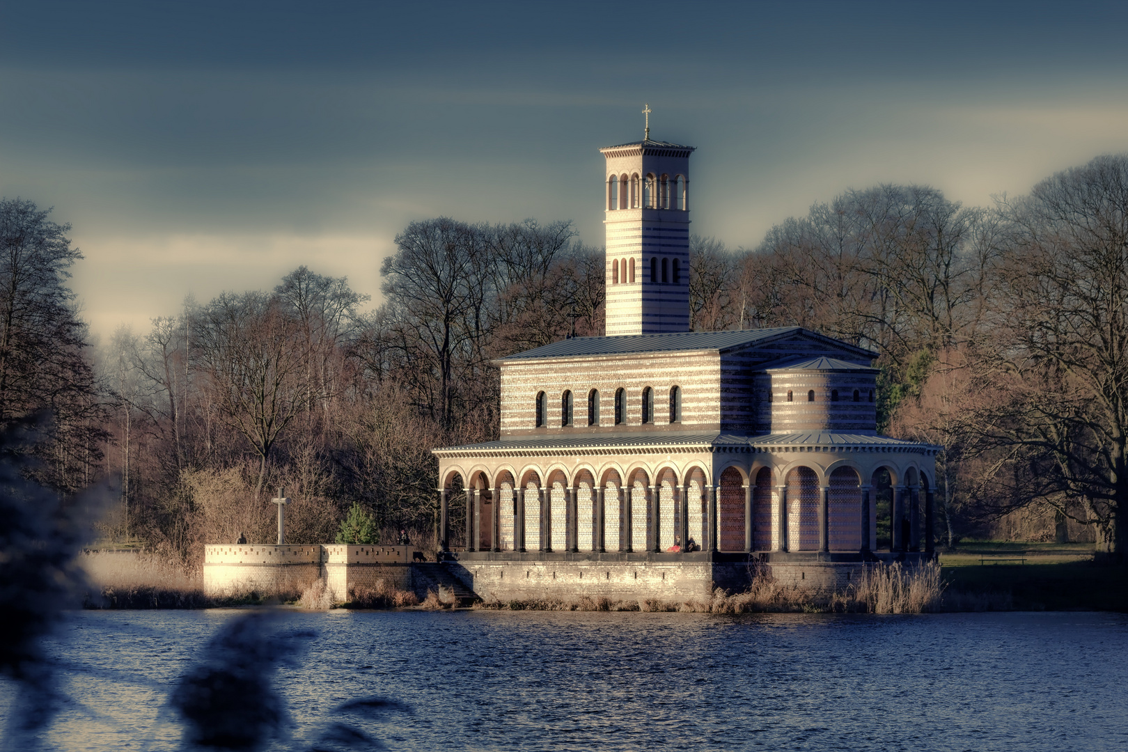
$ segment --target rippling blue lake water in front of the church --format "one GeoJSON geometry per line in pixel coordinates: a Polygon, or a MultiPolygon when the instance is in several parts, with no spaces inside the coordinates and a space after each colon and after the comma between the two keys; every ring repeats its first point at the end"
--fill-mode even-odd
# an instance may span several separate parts
{"type": "MultiPolygon", "coordinates": [[[[80,612],[52,652],[64,750],[173,750],[168,691],[238,610],[80,612]]],[[[1128,616],[285,611],[308,749],[333,709],[405,702],[391,750],[1126,750],[1128,616]]],[[[3,685],[10,702],[12,688],[3,685]]]]}

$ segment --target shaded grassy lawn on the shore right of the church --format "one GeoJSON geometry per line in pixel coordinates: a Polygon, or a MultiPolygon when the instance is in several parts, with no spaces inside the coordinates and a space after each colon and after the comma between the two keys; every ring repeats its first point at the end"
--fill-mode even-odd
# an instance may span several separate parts
{"type": "Polygon", "coordinates": [[[1092,543],[966,541],[940,563],[949,589],[1008,592],[1020,611],[1128,611],[1128,567],[1094,564],[1092,543]],[[1007,557],[1026,563],[992,564],[1007,557]]]}

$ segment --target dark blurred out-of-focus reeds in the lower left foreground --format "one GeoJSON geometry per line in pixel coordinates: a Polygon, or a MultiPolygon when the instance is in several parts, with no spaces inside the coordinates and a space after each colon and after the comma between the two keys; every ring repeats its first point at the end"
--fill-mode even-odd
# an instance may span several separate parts
{"type": "MultiPolygon", "coordinates": [[[[21,752],[50,749],[52,726],[79,707],[61,689],[60,676],[72,666],[50,657],[44,642],[81,603],[86,582],[76,556],[112,499],[106,486],[64,497],[35,480],[39,466],[30,450],[42,425],[38,418],[0,433],[0,675],[16,684],[0,749],[21,752]]],[[[384,749],[371,728],[388,713],[411,709],[380,697],[338,705],[311,742],[288,738],[292,724],[274,687],[276,670],[294,665],[315,636],[285,628],[274,612],[219,628],[169,697],[183,723],[182,749],[254,751],[280,742],[318,751],[384,749]]]]}

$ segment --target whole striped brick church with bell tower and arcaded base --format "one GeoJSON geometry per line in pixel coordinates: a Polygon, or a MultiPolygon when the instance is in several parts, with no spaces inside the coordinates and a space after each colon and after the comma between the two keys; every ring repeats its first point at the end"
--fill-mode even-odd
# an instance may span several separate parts
{"type": "Polygon", "coordinates": [[[448,560],[504,599],[704,595],[750,563],[831,587],[932,558],[940,448],[878,434],[878,353],[689,330],[694,148],[649,135],[600,149],[607,336],[499,360],[500,439],[433,450],[448,560]]]}

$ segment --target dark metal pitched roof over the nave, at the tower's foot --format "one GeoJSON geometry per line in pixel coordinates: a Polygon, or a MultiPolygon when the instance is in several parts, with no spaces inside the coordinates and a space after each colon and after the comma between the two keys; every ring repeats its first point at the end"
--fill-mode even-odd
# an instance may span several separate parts
{"type": "MultiPolygon", "coordinates": [[[[615,337],[572,337],[571,339],[562,339],[550,345],[544,345],[543,347],[527,350],[523,353],[499,357],[497,361],[618,355],[626,353],[668,353],[689,350],[724,351],[760,339],[768,339],[802,330],[802,327],[776,327],[773,329],[743,329],[738,331],[675,331],[671,334],[628,334],[615,337]]],[[[845,345],[846,343],[843,344],[845,345]]],[[[851,345],[846,346],[849,347],[851,345]]]]}

